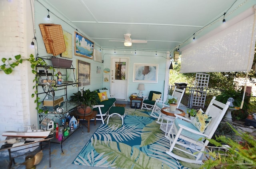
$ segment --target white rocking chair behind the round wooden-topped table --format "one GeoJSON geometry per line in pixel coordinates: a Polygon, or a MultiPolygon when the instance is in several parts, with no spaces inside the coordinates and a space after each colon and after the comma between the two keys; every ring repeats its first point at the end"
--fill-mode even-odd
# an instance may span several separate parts
{"type": "MultiPolygon", "coordinates": [[[[176,86],[174,87],[174,90],[172,92],[172,96],[173,97],[176,97],[177,98],[177,108],[180,106],[180,101],[185,93],[185,90],[186,88],[183,88],[183,89],[179,89],[177,88],[176,86]]],[[[165,102],[161,101],[161,100],[156,100],[155,104],[154,104],[154,107],[152,109],[152,112],[150,114],[150,116],[154,117],[154,118],[158,118],[158,122],[161,118],[161,108],[164,108],[164,107],[169,107],[169,104],[166,104],[168,102],[168,99],[169,99],[169,95],[166,99],[165,102]]]]}

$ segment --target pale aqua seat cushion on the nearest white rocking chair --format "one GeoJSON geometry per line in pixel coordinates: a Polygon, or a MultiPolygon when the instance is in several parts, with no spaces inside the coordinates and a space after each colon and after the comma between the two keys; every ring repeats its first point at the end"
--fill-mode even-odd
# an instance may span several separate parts
{"type": "MultiPolygon", "coordinates": [[[[192,130],[195,130],[195,131],[199,132],[199,130],[193,124],[191,124],[189,122],[186,122],[185,120],[181,120],[179,118],[176,118],[174,120],[174,123],[175,123],[175,126],[177,126],[178,130],[180,129],[178,124],[182,124],[183,126],[186,126],[188,128],[191,128],[192,130]]],[[[191,132],[189,132],[187,130],[182,130],[181,134],[186,136],[186,137],[188,137],[188,138],[192,138],[194,140],[199,140],[200,138],[204,138],[204,136],[191,133],[191,132]]],[[[202,139],[201,141],[204,141],[204,139],[202,139]]]]}

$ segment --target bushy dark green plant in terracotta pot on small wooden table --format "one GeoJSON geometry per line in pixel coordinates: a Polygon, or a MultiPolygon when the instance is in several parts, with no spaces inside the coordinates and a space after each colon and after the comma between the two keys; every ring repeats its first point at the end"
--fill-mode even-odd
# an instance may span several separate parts
{"type": "Polygon", "coordinates": [[[89,114],[92,112],[92,106],[96,105],[100,99],[98,97],[97,91],[90,91],[90,89],[84,90],[84,88],[70,96],[70,101],[81,102],[82,105],[78,106],[78,116],[84,116],[84,114],[89,114]],[[81,92],[82,91],[82,92],[81,92]]]}

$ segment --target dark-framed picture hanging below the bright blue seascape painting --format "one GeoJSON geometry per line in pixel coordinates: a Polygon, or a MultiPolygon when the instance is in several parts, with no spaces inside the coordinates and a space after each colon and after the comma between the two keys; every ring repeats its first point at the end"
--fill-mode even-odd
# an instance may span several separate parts
{"type": "Polygon", "coordinates": [[[91,79],[91,64],[85,61],[76,60],[76,70],[77,70],[77,78],[78,82],[81,82],[78,84],[78,86],[90,85],[90,79],[91,79]]]}

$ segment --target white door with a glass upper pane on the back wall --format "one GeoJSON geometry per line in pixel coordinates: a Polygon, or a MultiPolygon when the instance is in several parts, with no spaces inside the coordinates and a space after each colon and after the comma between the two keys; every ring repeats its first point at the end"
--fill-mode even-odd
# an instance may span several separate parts
{"type": "Polygon", "coordinates": [[[111,60],[111,94],[118,100],[126,100],[128,58],[111,60]]]}

